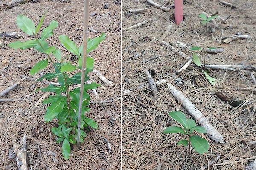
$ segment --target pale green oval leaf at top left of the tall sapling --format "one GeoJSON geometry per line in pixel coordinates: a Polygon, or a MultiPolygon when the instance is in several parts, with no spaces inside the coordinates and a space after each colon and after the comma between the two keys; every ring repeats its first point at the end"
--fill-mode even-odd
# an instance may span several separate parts
{"type": "Polygon", "coordinates": [[[25,33],[29,35],[33,35],[35,33],[35,24],[33,23],[32,20],[30,20],[28,17],[25,15],[19,15],[17,17],[17,25],[18,27],[25,33]]]}

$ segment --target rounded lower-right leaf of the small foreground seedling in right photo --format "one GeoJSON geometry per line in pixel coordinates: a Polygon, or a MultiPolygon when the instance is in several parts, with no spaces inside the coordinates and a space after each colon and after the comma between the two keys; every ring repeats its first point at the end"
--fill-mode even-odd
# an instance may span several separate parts
{"type": "Polygon", "coordinates": [[[196,152],[201,155],[208,152],[210,145],[207,140],[200,136],[190,136],[189,139],[196,152]]]}

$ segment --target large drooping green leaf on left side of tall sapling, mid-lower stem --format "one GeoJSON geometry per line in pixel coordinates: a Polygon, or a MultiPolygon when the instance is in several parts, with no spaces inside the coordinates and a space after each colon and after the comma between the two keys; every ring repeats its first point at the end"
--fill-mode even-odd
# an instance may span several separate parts
{"type": "MultiPolygon", "coordinates": [[[[63,97],[63,96],[62,96],[63,97]]],[[[61,99],[56,100],[52,103],[46,110],[44,115],[44,120],[48,123],[52,121],[62,110],[64,104],[66,104],[67,97],[63,97],[61,99]]]]}

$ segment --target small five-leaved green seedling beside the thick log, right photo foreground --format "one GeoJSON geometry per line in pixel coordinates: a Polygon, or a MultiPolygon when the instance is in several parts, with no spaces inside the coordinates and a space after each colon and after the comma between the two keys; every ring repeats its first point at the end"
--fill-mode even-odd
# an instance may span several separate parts
{"type": "Polygon", "coordinates": [[[191,155],[190,143],[196,152],[203,155],[207,153],[209,150],[209,143],[206,139],[197,136],[191,135],[194,131],[198,133],[207,133],[206,129],[201,126],[196,126],[195,121],[192,119],[186,119],[186,116],[183,112],[175,111],[169,112],[169,115],[177,122],[180,122],[183,125],[184,130],[181,127],[171,126],[167,127],[166,130],[163,131],[164,134],[168,133],[181,133],[188,135],[188,140],[184,139],[178,142],[178,145],[183,144],[185,147],[189,144],[189,153],[191,155]]]}

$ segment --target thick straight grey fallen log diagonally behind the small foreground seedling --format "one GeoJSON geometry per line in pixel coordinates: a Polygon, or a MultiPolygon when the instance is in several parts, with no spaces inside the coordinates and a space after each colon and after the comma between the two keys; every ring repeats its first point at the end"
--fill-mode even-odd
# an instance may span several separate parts
{"type": "Polygon", "coordinates": [[[183,95],[182,92],[177,90],[175,86],[172,84],[167,83],[168,91],[171,92],[171,94],[176,98],[177,101],[179,101],[182,106],[189,112],[189,114],[198,122],[198,124],[201,124],[206,130],[207,134],[210,138],[212,138],[213,141],[216,143],[224,144],[224,137],[219,133],[215,127],[213,127],[209,121],[204,117],[204,115],[195,107],[194,104],[192,104],[191,101],[189,101],[188,98],[186,98],[185,95],[183,95]]]}

